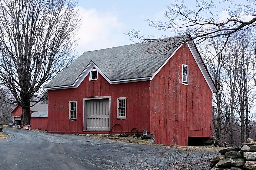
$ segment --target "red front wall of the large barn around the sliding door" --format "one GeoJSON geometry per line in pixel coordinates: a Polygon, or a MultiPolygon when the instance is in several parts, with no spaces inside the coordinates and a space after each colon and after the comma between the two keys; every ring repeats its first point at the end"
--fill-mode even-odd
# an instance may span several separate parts
{"type": "MultiPolygon", "coordinates": [[[[83,132],[83,99],[95,96],[111,96],[110,128],[120,123],[124,133],[130,133],[132,128],[139,132],[150,127],[149,118],[149,85],[150,81],[121,83],[110,85],[98,73],[98,80],[89,81],[89,75],[77,88],[48,91],[48,132],[58,133],[109,133],[83,132]],[[126,119],[118,120],[117,98],[126,97],[126,119]],[[69,119],[69,101],[77,101],[77,120],[69,119]]],[[[119,132],[120,128],[113,129],[119,132]]]]}

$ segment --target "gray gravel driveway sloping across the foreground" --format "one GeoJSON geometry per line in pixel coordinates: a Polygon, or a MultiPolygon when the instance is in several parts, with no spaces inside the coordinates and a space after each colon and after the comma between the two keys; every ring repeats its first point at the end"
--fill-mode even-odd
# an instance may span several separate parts
{"type": "Polygon", "coordinates": [[[214,148],[143,145],[4,129],[0,169],[210,169],[214,148]]]}

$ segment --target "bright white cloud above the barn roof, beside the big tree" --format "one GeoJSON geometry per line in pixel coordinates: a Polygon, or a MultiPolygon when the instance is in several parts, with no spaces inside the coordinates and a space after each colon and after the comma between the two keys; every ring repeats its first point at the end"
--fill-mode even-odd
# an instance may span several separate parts
{"type": "Polygon", "coordinates": [[[78,55],[85,51],[124,45],[127,37],[124,35],[124,24],[118,21],[115,14],[100,13],[95,8],[79,7],[82,17],[78,30],[78,55]]]}

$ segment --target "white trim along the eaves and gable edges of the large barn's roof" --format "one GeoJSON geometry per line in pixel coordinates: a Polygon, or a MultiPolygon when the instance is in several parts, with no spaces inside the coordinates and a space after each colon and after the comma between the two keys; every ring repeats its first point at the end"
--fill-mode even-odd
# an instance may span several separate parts
{"type": "MultiPolygon", "coordinates": [[[[203,64],[199,64],[198,60],[201,61],[197,51],[195,50],[193,45],[189,45],[188,47],[200,69],[200,71],[202,72],[202,74],[204,75],[204,79],[206,80],[208,86],[210,87],[212,92],[217,92],[213,82],[211,81],[210,76],[208,75],[208,72],[206,71],[206,69],[204,68],[203,64]]],[[[93,67],[96,68],[96,70],[108,81],[109,84],[119,84],[119,83],[128,83],[128,82],[139,82],[139,81],[147,81],[147,80],[152,80],[155,75],[157,75],[157,73],[165,66],[165,64],[171,59],[171,57],[180,49],[180,47],[183,44],[181,44],[172,54],[171,56],[168,57],[168,59],[159,67],[159,69],[151,76],[151,77],[142,77],[142,78],[135,78],[135,79],[123,79],[123,80],[114,80],[114,81],[110,81],[108,79],[108,77],[96,66],[96,64],[91,61],[88,66],[84,69],[84,71],[79,75],[78,79],[76,79],[76,81],[73,83],[73,85],[65,85],[65,86],[58,86],[58,87],[49,87],[49,88],[45,88],[47,90],[57,90],[57,89],[65,89],[65,88],[77,88],[81,82],[85,79],[85,77],[90,73],[91,69],[93,69],[93,67]]]]}

